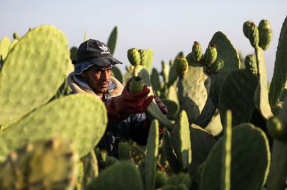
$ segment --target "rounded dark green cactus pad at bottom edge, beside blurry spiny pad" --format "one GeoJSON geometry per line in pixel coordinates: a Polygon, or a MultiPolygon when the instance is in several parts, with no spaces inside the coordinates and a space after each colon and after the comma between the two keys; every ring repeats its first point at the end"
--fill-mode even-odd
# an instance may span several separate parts
{"type": "Polygon", "coordinates": [[[87,188],[88,190],[143,190],[140,172],[130,162],[117,162],[104,169],[87,188]]]}

